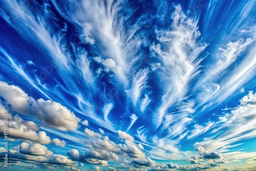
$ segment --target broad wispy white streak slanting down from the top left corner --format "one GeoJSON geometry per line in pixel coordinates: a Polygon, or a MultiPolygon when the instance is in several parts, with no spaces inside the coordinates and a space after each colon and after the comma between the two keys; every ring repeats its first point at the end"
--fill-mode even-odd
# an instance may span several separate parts
{"type": "MultiPolygon", "coordinates": [[[[17,30],[20,35],[24,36],[26,39],[44,46],[55,62],[60,64],[59,66],[70,69],[69,63],[72,61],[69,60],[66,52],[63,52],[64,50],[61,45],[61,36],[64,29],[62,32],[60,31],[59,34],[51,36],[44,18],[42,16],[34,17],[24,2],[7,0],[4,4],[6,11],[12,16],[12,19],[17,20],[17,22],[11,23],[10,20],[5,17],[11,27],[17,30]]],[[[45,8],[44,10],[46,10],[45,13],[47,14],[48,9],[45,8]]]]}

